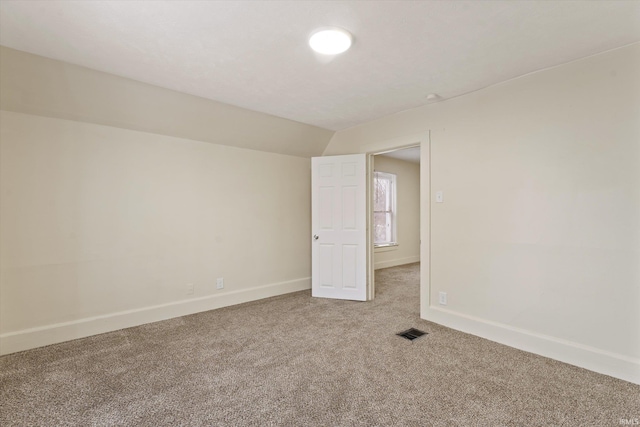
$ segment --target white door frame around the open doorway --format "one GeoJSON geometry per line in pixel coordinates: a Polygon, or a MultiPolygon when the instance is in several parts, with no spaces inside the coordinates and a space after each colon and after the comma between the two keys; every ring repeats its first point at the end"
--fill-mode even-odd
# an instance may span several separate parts
{"type": "Polygon", "coordinates": [[[367,301],[375,297],[373,156],[413,147],[420,147],[420,317],[424,319],[431,297],[431,141],[429,132],[387,141],[384,148],[367,152],[367,301]]]}

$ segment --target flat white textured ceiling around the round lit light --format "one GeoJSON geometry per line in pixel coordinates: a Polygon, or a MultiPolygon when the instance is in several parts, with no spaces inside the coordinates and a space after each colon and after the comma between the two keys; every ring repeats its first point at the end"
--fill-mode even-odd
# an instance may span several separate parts
{"type": "Polygon", "coordinates": [[[5,46],[332,130],[637,41],[640,1],[0,2],[5,46]]]}

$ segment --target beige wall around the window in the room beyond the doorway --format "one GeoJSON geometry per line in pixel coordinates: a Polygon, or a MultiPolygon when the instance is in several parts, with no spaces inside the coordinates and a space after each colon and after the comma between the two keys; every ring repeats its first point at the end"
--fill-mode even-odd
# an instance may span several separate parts
{"type": "Polygon", "coordinates": [[[398,246],[377,248],[375,268],[420,261],[420,164],[378,155],[374,170],[396,174],[398,246]]]}

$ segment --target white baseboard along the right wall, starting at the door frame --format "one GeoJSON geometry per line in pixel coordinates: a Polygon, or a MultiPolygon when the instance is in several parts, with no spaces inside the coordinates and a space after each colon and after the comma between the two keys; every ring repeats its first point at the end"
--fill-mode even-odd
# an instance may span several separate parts
{"type": "Polygon", "coordinates": [[[590,371],[640,384],[640,359],[514,328],[440,307],[428,307],[425,320],[590,371]]]}

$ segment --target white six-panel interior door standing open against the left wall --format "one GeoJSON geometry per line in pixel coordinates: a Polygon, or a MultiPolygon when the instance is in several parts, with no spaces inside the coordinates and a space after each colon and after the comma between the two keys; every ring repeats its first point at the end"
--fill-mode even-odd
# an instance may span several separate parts
{"type": "Polygon", "coordinates": [[[311,294],[367,299],[366,154],[311,159],[311,294]]]}

